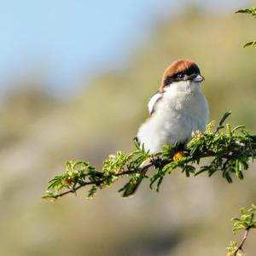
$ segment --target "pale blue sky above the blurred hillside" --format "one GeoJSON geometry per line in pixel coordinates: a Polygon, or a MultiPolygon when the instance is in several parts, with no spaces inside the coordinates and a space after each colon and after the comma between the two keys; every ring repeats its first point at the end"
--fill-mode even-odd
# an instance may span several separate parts
{"type": "Polygon", "coordinates": [[[230,12],[241,7],[239,0],[0,0],[1,93],[9,79],[42,68],[49,90],[67,94],[95,67],[118,66],[161,16],[193,2],[230,12]]]}

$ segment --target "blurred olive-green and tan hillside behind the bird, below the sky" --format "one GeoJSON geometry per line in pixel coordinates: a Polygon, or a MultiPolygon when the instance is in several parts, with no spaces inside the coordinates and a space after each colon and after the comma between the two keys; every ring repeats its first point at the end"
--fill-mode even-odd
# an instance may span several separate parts
{"type": "MultiPolygon", "coordinates": [[[[85,201],[83,191],[55,204],[39,198],[66,160],[100,167],[108,154],[133,150],[148,97],[177,58],[201,67],[211,119],[231,109],[231,125],[255,133],[256,51],[241,48],[252,40],[254,23],[243,15],[187,9],[155,26],[129,64],[99,73],[89,88],[82,83],[71,100],[56,102],[38,80],[9,96],[0,109],[3,255],[224,254],[233,238],[230,217],[256,201],[255,163],[232,185],[218,176],[188,179],[175,172],[159,194],[142,184],[136,197],[124,200],[118,183],[94,201],[85,201]]],[[[247,255],[254,241],[247,240],[247,255]]]]}

